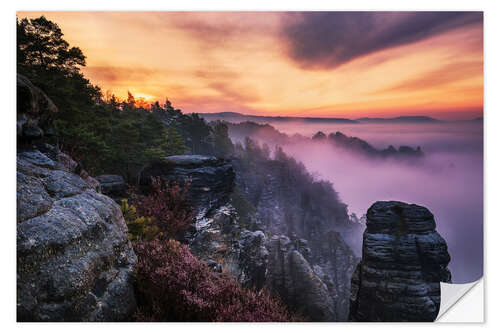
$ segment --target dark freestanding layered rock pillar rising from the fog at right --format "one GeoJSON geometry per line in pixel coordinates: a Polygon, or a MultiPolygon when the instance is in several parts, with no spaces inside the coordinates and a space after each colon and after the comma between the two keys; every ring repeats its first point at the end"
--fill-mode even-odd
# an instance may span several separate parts
{"type": "Polygon", "coordinates": [[[376,202],[367,213],[363,257],[352,277],[350,320],[433,321],[439,282],[450,282],[445,240],[425,207],[376,202]]]}

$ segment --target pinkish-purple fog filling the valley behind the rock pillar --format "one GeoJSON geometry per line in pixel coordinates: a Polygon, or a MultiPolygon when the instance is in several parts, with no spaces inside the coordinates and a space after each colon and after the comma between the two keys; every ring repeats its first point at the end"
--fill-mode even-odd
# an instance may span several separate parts
{"type": "MultiPolygon", "coordinates": [[[[420,146],[418,162],[369,159],[305,141],[283,146],[319,179],[333,183],[358,217],[375,201],[398,200],[427,207],[448,243],[454,283],[477,280],[483,272],[483,125],[440,124],[290,124],[271,123],[286,134],[311,137],[341,131],[376,148],[420,146]]],[[[361,243],[361,239],[359,240],[361,243]]]]}

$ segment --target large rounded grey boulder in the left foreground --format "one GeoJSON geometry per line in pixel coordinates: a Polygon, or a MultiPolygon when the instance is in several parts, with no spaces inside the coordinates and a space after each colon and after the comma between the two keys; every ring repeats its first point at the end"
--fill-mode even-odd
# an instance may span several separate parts
{"type": "Polygon", "coordinates": [[[136,261],[120,208],[45,145],[17,154],[17,319],[123,321],[136,261]]]}

